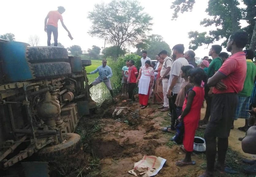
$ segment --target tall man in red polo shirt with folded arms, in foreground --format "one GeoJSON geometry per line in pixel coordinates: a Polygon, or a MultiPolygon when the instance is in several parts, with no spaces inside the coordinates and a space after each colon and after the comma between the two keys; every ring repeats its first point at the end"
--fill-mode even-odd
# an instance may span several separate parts
{"type": "Polygon", "coordinates": [[[214,174],[216,156],[216,137],[218,137],[217,169],[225,173],[225,156],[228,137],[238,104],[238,92],[243,90],[246,77],[246,57],[243,48],[248,42],[246,32],[235,32],[227,41],[227,51],[231,56],[220,69],[208,79],[208,86],[213,88],[211,118],[204,132],[206,142],[206,172],[200,177],[214,174]]]}

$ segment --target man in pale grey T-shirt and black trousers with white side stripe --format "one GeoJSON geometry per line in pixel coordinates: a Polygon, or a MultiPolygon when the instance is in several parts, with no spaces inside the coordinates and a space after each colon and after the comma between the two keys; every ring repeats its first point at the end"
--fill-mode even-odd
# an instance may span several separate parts
{"type": "Polygon", "coordinates": [[[184,49],[185,48],[183,44],[174,45],[174,47],[172,48],[173,55],[174,57],[176,56],[176,60],[173,62],[173,65],[171,67],[167,93],[167,97],[169,98],[170,111],[172,113],[172,123],[170,127],[171,130],[175,130],[174,123],[178,118],[176,113],[175,101],[183,82],[185,82],[184,78],[181,78],[180,75],[181,67],[189,65],[188,60],[183,57],[184,49]]]}

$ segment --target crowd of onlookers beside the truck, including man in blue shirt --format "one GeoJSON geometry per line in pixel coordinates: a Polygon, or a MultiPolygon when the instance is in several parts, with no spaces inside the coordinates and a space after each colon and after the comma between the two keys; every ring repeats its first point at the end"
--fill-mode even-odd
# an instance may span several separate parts
{"type": "MultiPolygon", "coordinates": [[[[128,95],[127,101],[135,101],[134,89],[138,87],[141,109],[149,106],[152,94],[153,103],[160,105],[159,110],[169,111],[170,126],[162,128],[162,131],[176,130],[175,136],[170,140],[183,143],[180,147],[186,153],[184,159],[176,162],[177,166],[196,163],[191,159],[195,132],[199,125],[205,129],[207,170],[201,177],[213,176],[217,152],[216,168],[225,173],[228,137],[230,130],[234,128],[234,120],[245,119],[245,125],[238,128],[244,132],[255,125],[255,118],[249,120],[250,115],[246,112],[251,106],[256,107],[256,65],[252,62],[255,53],[250,49],[243,50],[247,42],[247,33],[235,32],[227,41],[227,51],[231,55],[221,52],[220,45],[212,45],[208,53],[212,59],[205,56],[199,65],[195,62],[195,52],[184,52],[183,44],[174,45],[171,57],[166,50],[162,50],[156,56],[157,62],[154,64],[147,56],[147,51],[143,51],[140,68],[134,66],[133,60],[127,60],[126,66],[121,70],[122,96],[128,95]],[[204,100],[206,112],[200,121],[204,100]]],[[[113,96],[109,81],[112,70],[105,60],[102,61],[102,66],[88,74],[97,71],[99,77],[90,87],[104,82],[113,96]]],[[[251,111],[251,114],[254,112],[251,111]]],[[[239,138],[243,139],[248,137],[239,138]]]]}

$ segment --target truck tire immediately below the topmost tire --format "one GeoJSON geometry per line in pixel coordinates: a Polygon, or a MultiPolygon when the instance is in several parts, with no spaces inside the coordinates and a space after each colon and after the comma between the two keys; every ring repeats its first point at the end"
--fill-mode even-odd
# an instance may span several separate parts
{"type": "Polygon", "coordinates": [[[35,78],[46,78],[71,74],[70,63],[66,62],[56,61],[45,63],[32,63],[31,67],[34,71],[35,78]]]}

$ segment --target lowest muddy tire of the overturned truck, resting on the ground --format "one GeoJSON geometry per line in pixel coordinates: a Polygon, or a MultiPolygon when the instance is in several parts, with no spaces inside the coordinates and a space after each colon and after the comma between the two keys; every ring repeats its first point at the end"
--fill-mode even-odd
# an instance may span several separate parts
{"type": "Polygon", "coordinates": [[[80,135],[63,133],[63,139],[67,139],[67,142],[37,152],[37,160],[49,162],[50,176],[70,176],[84,161],[80,135]]]}

